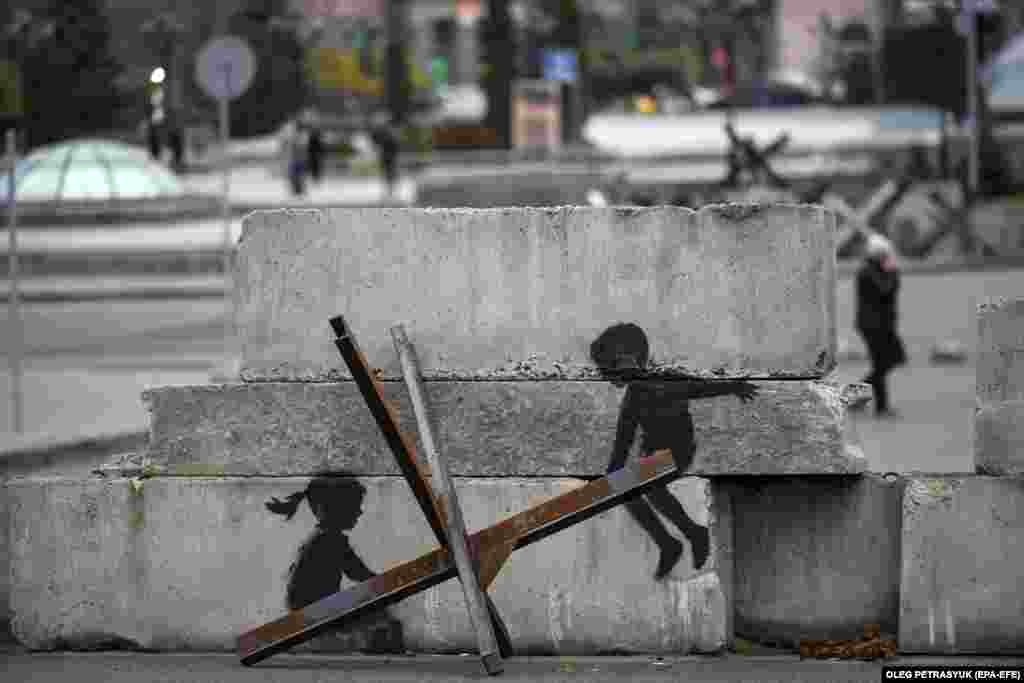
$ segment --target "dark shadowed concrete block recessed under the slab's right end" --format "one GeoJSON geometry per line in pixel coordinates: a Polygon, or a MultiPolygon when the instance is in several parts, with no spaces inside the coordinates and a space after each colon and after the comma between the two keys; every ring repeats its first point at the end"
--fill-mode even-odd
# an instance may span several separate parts
{"type": "Polygon", "coordinates": [[[715,480],[733,511],[736,635],[795,646],[896,633],[903,484],[862,477],[715,480]],[[721,483],[719,483],[721,481],[721,483]]]}

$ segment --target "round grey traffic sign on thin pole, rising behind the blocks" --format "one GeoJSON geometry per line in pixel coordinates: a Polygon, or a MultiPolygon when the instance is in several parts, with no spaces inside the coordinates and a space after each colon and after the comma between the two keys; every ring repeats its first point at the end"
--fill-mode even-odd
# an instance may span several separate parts
{"type": "MultiPolygon", "coordinates": [[[[256,57],[249,44],[237,36],[220,36],[211,39],[200,50],[196,59],[196,80],[203,91],[217,100],[220,119],[220,169],[221,169],[221,218],[223,220],[223,269],[224,279],[230,278],[231,253],[231,160],[228,154],[230,141],[230,100],[239,97],[252,84],[256,73],[256,57]]],[[[227,316],[227,332],[230,336],[231,316],[227,316]]]]}

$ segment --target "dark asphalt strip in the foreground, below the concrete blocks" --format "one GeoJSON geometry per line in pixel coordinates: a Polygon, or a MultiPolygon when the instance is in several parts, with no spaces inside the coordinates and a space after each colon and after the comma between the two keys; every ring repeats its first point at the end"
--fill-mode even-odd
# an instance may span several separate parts
{"type": "MultiPolygon", "coordinates": [[[[335,683],[373,681],[480,681],[488,677],[475,656],[336,656],[282,654],[255,667],[231,654],[35,653],[8,654],[0,667],[10,681],[63,683],[335,683]]],[[[884,666],[1020,668],[1024,657],[896,657],[883,661],[801,660],[795,655],[682,657],[513,657],[489,680],[563,683],[879,683],[884,666]]]]}

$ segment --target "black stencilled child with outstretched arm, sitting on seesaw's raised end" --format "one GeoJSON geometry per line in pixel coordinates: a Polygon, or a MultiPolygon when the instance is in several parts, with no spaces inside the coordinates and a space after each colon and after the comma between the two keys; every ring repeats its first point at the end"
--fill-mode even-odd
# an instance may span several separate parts
{"type": "MultiPolygon", "coordinates": [[[[676,462],[688,465],[696,453],[689,400],[731,394],[748,402],[757,395],[757,387],[743,381],[637,380],[637,375],[647,366],[649,347],[647,335],[632,323],[620,323],[602,332],[591,344],[590,356],[605,379],[614,386],[626,387],[608,463],[609,473],[626,465],[638,429],[643,431],[640,450],[644,457],[670,449],[676,462]]],[[[672,571],[683,554],[683,544],[669,532],[651,506],[668,517],[689,541],[693,568],[702,567],[710,550],[708,528],[690,519],[667,486],[658,486],[626,504],[629,513],[660,550],[654,579],[664,579],[672,571]]]]}

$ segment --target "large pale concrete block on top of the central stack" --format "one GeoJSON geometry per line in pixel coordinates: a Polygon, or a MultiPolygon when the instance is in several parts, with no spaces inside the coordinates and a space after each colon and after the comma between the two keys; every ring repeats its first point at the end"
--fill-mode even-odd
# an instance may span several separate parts
{"type": "Polygon", "coordinates": [[[400,379],[406,326],[428,379],[594,379],[609,326],[648,372],[812,378],[835,365],[833,213],[810,206],[264,211],[236,268],[242,377],[348,377],[328,319],[400,379]]]}

